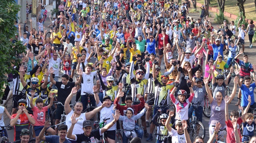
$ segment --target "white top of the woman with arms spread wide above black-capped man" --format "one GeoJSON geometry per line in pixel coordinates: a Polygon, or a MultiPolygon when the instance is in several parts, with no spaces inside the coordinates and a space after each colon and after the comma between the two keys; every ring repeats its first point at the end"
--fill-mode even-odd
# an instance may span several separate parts
{"type": "MultiPolygon", "coordinates": [[[[74,113],[73,110],[71,110],[69,112],[68,115],[66,115],[66,125],[68,126],[68,129],[70,128],[71,126],[71,116],[72,114],[74,113]]],[[[83,121],[86,120],[86,117],[85,117],[85,113],[81,113],[81,115],[79,117],[76,118],[77,123],[74,125],[74,128],[73,128],[73,132],[72,134],[83,134],[84,131],[83,131],[83,121]]]]}

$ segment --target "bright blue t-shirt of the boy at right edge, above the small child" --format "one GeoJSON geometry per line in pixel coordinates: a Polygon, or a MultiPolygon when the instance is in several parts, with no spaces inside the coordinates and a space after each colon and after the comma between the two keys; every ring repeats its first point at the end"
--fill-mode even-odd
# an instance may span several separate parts
{"type": "Polygon", "coordinates": [[[251,96],[251,105],[254,104],[254,88],[255,88],[255,83],[250,84],[250,87],[247,88],[244,84],[240,87],[241,89],[241,94],[242,94],[242,107],[246,107],[248,105],[248,96],[251,96]]]}

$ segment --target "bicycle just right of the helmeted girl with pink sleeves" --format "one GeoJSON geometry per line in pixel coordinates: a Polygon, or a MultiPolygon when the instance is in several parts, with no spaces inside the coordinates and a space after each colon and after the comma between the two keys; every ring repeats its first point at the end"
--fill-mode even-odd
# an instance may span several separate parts
{"type": "Polygon", "coordinates": [[[196,113],[195,113],[195,110],[197,110],[200,104],[201,104],[200,102],[198,103],[191,102],[191,105],[194,107],[194,110],[192,113],[192,118],[190,118],[188,133],[190,134],[190,138],[192,141],[194,141],[194,139],[197,136],[201,136],[202,138],[205,137],[206,130],[205,130],[204,124],[197,120],[196,113]]]}

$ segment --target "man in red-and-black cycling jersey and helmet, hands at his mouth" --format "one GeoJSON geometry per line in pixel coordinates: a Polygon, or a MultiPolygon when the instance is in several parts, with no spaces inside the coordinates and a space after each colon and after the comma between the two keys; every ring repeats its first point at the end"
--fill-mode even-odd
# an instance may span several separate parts
{"type": "Polygon", "coordinates": [[[14,141],[20,139],[20,134],[22,129],[28,129],[30,124],[35,124],[35,120],[33,115],[28,114],[28,110],[26,110],[27,101],[25,99],[20,99],[18,101],[18,108],[16,114],[12,115],[12,119],[10,121],[10,125],[14,126],[14,141]]]}

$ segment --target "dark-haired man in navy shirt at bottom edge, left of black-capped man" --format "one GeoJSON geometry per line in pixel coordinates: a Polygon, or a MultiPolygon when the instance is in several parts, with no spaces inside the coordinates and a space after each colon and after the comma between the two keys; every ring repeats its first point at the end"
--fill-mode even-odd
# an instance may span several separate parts
{"type": "Polygon", "coordinates": [[[49,142],[49,143],[71,143],[71,141],[66,139],[66,133],[68,130],[67,125],[61,124],[58,127],[58,136],[57,135],[51,135],[51,136],[44,136],[45,131],[50,128],[51,124],[50,121],[45,121],[45,126],[43,127],[42,131],[40,132],[38,138],[40,140],[49,142]]]}

